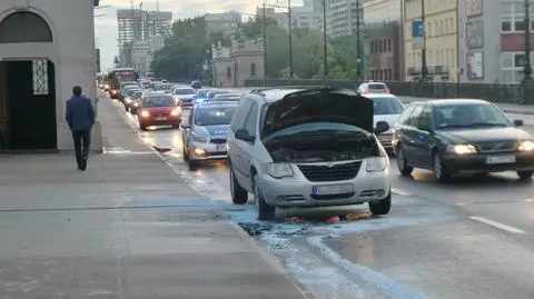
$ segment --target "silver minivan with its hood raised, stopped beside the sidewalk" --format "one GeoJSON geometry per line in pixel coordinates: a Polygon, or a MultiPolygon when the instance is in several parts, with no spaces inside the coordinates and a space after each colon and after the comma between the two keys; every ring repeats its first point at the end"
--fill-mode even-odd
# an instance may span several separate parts
{"type": "Polygon", "coordinates": [[[267,89],[241,98],[228,131],[230,192],[253,193],[258,218],[276,207],[392,205],[389,159],[373,126],[373,101],[352,90],[267,89]]]}

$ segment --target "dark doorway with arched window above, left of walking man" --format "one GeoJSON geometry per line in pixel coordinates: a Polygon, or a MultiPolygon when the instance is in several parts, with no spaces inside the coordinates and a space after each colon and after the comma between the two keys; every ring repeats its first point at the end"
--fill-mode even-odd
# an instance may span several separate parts
{"type": "MultiPolygon", "coordinates": [[[[2,44],[52,43],[52,30],[37,13],[17,11],[0,20],[2,44]]],[[[0,149],[57,149],[55,66],[48,59],[0,62],[0,149]]]]}

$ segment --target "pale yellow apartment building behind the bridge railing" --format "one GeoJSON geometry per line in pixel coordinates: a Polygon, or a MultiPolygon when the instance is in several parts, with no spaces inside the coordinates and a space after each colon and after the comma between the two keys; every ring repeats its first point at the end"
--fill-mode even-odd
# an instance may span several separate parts
{"type": "Polygon", "coordinates": [[[434,81],[457,81],[458,69],[458,7],[457,0],[405,0],[404,49],[407,80],[417,80],[422,73],[422,51],[426,43],[428,78],[434,81]],[[424,3],[422,2],[424,1],[424,3]],[[424,41],[413,37],[414,21],[424,14],[424,41]]]}

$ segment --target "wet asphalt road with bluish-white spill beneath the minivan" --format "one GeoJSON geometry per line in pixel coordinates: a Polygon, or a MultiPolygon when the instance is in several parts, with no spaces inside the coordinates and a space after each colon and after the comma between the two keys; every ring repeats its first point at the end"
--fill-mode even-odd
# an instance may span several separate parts
{"type": "MultiPolygon", "coordinates": [[[[534,118],[521,117],[534,124],[534,118]]],[[[127,118],[137,126],[135,117],[127,118]]],[[[139,137],[170,149],[165,156],[175,171],[197,191],[228,203],[230,219],[257,235],[319,298],[534,298],[534,183],[517,181],[515,173],[439,185],[427,171],[400,177],[392,159],[390,215],[373,219],[366,207],[353,207],[335,225],[269,223],[256,220],[254,202],[231,206],[226,165],[187,169],[179,130],[139,137]]]]}

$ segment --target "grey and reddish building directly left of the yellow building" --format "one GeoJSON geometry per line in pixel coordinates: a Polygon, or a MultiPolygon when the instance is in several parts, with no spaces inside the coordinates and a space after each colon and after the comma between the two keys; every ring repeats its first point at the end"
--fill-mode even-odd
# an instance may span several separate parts
{"type": "Polygon", "coordinates": [[[404,30],[402,0],[366,0],[363,40],[366,77],[404,81],[404,30]]]}

